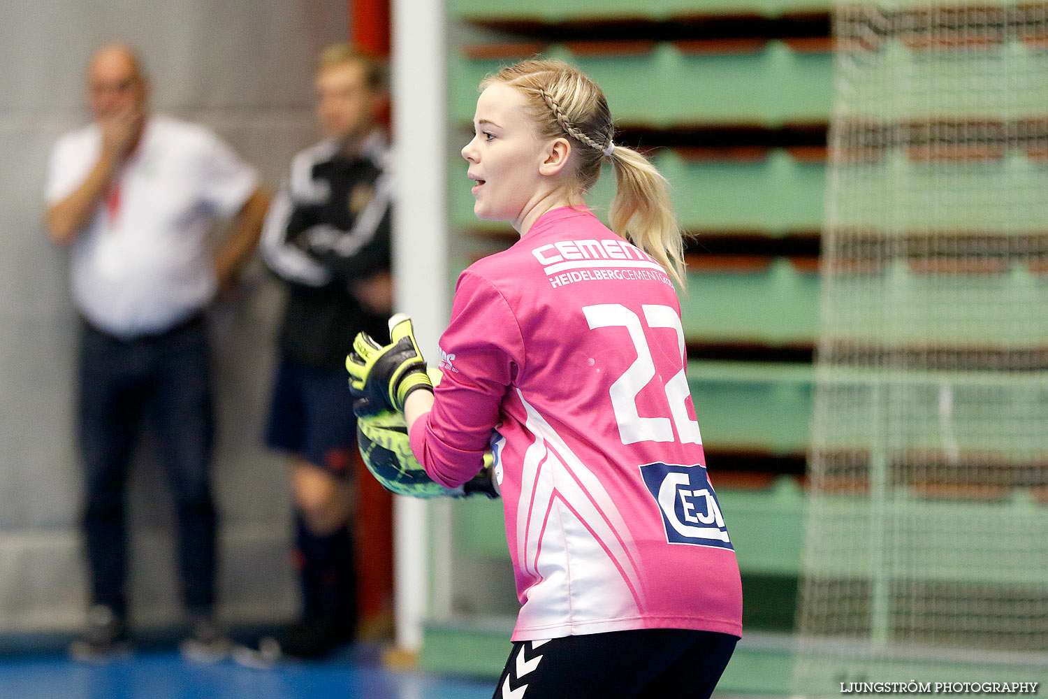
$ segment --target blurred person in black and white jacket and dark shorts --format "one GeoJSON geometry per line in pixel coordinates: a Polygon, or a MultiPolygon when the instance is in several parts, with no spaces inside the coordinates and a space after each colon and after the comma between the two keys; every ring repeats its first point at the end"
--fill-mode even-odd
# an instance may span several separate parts
{"type": "Polygon", "coordinates": [[[247,663],[323,657],[351,641],[357,624],[346,355],[357,332],[387,332],[392,306],[385,66],[331,46],[315,88],[326,137],[291,161],[261,245],[287,286],[266,442],[290,455],[302,618],[252,654],[242,649],[247,663]]]}

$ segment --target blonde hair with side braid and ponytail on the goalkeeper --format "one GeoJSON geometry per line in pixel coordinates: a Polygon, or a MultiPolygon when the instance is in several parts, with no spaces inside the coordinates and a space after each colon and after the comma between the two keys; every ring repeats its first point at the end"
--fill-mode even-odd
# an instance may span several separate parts
{"type": "Polygon", "coordinates": [[[581,70],[563,61],[531,60],[485,79],[519,89],[527,100],[537,130],[546,137],[566,136],[578,154],[577,185],[588,191],[610,158],[615,171],[611,228],[650,255],[686,292],[683,240],[673,214],[669,183],[648,159],[612,143],[614,126],[604,92],[581,70]]]}

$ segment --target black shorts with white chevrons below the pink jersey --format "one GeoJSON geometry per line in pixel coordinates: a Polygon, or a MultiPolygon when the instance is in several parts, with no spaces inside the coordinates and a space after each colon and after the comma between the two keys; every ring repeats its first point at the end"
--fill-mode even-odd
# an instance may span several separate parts
{"type": "Polygon", "coordinates": [[[517,641],[493,699],[707,699],[738,640],[638,629],[517,641]]]}

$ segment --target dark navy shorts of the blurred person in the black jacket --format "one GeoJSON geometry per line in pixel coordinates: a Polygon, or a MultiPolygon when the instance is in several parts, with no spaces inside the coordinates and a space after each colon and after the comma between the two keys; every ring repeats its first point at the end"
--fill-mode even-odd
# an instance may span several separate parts
{"type": "Polygon", "coordinates": [[[351,475],[356,417],[349,374],[281,363],[266,444],[303,457],[334,476],[351,475]]]}

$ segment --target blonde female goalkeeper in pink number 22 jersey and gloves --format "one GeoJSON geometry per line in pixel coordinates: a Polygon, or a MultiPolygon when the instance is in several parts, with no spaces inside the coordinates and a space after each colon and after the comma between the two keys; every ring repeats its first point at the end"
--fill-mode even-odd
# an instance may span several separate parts
{"type": "Polygon", "coordinates": [[[522,605],[496,697],[708,697],[742,592],[684,374],[665,181],[612,141],[574,67],[526,61],[481,88],[474,211],[521,238],[459,277],[435,391],[410,325],[359,338],[353,380],[405,412],[438,483],[495,455],[522,605]],[[585,204],[604,163],[612,228],[585,204]]]}

